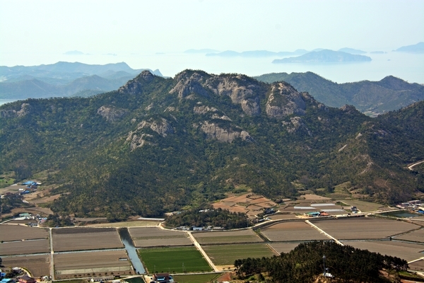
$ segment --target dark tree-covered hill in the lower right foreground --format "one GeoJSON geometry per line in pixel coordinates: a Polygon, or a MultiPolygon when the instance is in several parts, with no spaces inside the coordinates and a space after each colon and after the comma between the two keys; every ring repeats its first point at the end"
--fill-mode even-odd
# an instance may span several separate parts
{"type": "Polygon", "coordinates": [[[329,273],[334,282],[399,282],[395,274],[391,279],[380,271],[408,269],[401,258],[372,253],[334,242],[300,243],[289,253],[273,258],[247,258],[235,260],[240,279],[254,276],[259,282],[314,282],[319,275],[329,273]],[[325,257],[325,258],[324,258],[325,257]]]}

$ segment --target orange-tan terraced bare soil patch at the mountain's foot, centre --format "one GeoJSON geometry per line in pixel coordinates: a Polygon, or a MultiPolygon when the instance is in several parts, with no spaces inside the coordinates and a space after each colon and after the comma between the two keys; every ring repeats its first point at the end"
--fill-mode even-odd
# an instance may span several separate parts
{"type": "Polygon", "coordinates": [[[249,215],[255,215],[262,212],[267,207],[276,207],[277,204],[272,200],[261,195],[255,195],[247,192],[243,195],[227,197],[220,202],[213,204],[213,208],[228,209],[230,212],[242,212],[249,215]]]}

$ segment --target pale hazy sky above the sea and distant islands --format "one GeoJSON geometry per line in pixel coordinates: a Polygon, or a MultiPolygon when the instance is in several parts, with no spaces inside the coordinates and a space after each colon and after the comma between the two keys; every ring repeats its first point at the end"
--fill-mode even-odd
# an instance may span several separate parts
{"type": "Polygon", "coordinates": [[[3,66],[52,64],[71,50],[391,51],[424,41],[424,1],[0,0],[0,38],[3,66]]]}

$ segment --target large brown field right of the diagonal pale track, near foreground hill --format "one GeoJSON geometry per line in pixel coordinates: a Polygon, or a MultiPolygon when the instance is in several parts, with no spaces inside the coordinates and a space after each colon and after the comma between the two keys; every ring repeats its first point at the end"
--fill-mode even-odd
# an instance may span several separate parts
{"type": "Polygon", "coordinates": [[[339,240],[387,238],[419,227],[404,221],[370,217],[320,220],[311,223],[339,240]]]}

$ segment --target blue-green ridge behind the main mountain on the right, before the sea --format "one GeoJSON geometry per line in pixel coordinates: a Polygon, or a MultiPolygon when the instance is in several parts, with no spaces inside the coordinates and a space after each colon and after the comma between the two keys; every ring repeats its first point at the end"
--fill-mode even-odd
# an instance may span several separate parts
{"type": "Polygon", "coordinates": [[[424,86],[408,83],[394,76],[387,76],[381,81],[334,83],[308,71],[264,74],[255,79],[267,83],[287,81],[298,91],[307,91],[325,105],[354,105],[367,115],[379,115],[424,100],[424,86]]]}

